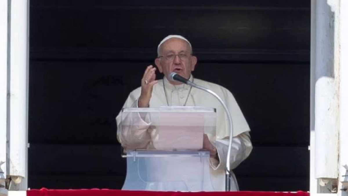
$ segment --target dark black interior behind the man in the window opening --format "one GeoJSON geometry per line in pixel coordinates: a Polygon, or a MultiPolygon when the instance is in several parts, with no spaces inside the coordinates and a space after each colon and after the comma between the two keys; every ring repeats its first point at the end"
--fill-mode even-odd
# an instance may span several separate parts
{"type": "Polygon", "coordinates": [[[309,0],[31,0],[30,188],[122,187],[115,117],[171,34],[250,125],[240,189],[309,189],[309,0]]]}

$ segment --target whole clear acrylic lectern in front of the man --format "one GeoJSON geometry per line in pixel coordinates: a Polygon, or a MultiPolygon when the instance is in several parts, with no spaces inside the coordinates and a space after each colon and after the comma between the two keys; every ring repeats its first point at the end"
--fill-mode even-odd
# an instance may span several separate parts
{"type": "Polygon", "coordinates": [[[203,134],[215,140],[207,107],[124,108],[118,137],[127,158],[123,190],[213,190],[203,134]]]}

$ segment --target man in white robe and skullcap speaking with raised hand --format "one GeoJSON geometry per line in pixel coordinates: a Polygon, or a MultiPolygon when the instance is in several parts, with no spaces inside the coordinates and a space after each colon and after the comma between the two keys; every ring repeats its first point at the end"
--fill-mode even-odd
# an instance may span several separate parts
{"type": "MultiPolygon", "coordinates": [[[[226,88],[194,78],[191,72],[197,63],[192,55],[190,42],[182,36],[171,35],[164,38],[158,45],[158,58],[155,64],[164,74],[164,78],[156,80],[156,67],[148,66],[141,80],[141,87],[132,91],[124,108],[128,107],[161,107],[161,106],[204,106],[216,108],[216,135],[204,134],[203,148],[210,152],[210,175],[213,189],[225,190],[225,169],[229,143],[229,123],[220,102],[211,94],[191,88],[191,86],[172,81],[169,73],[175,72],[200,86],[214,91],[226,103],[233,119],[233,141],[231,146],[231,169],[236,168],[245,160],[251,150],[250,128],[240,110],[234,96],[226,88]]],[[[121,113],[116,117],[117,128],[120,130],[121,113]]],[[[118,140],[125,149],[154,149],[149,124],[144,118],[139,119],[143,126],[136,130],[118,133],[118,140]]],[[[239,190],[235,175],[232,173],[231,190],[239,190]]]]}

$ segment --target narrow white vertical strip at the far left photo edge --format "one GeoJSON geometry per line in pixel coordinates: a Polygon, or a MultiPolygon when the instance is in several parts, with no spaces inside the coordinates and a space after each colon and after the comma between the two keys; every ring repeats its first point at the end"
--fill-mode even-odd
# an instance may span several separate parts
{"type": "Polygon", "coordinates": [[[7,79],[7,0],[0,0],[0,195],[7,194],[7,79]]]}

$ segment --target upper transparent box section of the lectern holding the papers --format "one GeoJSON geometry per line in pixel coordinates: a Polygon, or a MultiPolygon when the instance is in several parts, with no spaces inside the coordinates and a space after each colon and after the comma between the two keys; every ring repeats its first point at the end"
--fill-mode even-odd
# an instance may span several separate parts
{"type": "Polygon", "coordinates": [[[124,108],[118,138],[125,150],[199,150],[215,141],[216,112],[207,107],[124,108]]]}

